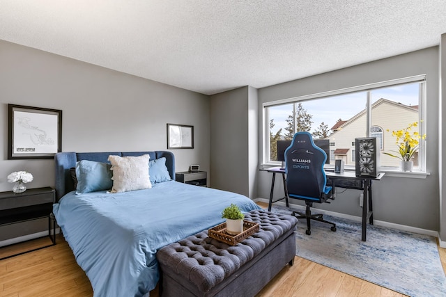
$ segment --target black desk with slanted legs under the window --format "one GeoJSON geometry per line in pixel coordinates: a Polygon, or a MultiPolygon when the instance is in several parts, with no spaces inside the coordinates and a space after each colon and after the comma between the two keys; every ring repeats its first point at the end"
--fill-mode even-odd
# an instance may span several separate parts
{"type": "MultiPolygon", "coordinates": [[[[288,192],[286,191],[286,177],[285,170],[280,167],[270,167],[261,169],[262,171],[272,172],[272,184],[270,191],[270,202],[268,204],[268,211],[271,210],[272,203],[286,199],[286,207],[289,207],[288,201],[288,192]],[[272,200],[272,193],[274,192],[274,183],[275,183],[275,175],[276,173],[282,174],[282,179],[284,182],[284,191],[285,197],[277,199],[275,201],[272,200]]],[[[354,188],[357,190],[363,191],[363,200],[362,200],[362,241],[366,241],[367,238],[367,218],[369,219],[370,225],[374,224],[374,215],[373,215],[373,203],[371,196],[371,182],[373,180],[380,180],[384,176],[384,172],[381,172],[378,177],[357,177],[355,172],[342,172],[342,173],[334,173],[334,172],[326,172],[328,183],[333,187],[338,188],[354,188]],[[368,202],[368,207],[367,207],[368,202]]]]}

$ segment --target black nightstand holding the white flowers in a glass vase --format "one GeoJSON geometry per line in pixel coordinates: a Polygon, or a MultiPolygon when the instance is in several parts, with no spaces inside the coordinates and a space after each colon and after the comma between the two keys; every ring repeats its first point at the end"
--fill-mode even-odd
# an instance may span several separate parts
{"type": "MultiPolygon", "coordinates": [[[[13,191],[0,192],[0,226],[48,218],[48,236],[54,246],[56,244],[56,220],[52,214],[53,204],[56,202],[56,192],[49,186],[45,188],[29,188],[24,193],[13,191]],[[51,230],[52,229],[52,230],[51,230]]],[[[40,248],[47,248],[42,246],[40,248]]],[[[40,250],[35,248],[33,250],[40,250]]],[[[26,252],[32,252],[27,250],[26,252]]],[[[20,252],[1,259],[22,255],[20,252]]],[[[0,260],[1,260],[0,259],[0,260]]]]}

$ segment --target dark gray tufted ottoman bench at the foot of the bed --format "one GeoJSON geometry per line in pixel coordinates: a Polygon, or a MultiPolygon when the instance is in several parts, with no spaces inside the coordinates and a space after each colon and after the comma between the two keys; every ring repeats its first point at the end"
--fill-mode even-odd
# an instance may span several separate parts
{"type": "Polygon", "coordinates": [[[260,230],[236,246],[208,230],[157,252],[161,296],[254,296],[295,256],[294,216],[253,210],[245,220],[260,230]]]}

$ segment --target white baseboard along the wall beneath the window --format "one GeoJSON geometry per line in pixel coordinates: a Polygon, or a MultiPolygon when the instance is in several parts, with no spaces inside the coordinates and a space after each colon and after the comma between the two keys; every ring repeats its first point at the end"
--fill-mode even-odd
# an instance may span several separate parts
{"type": "MultiPolygon", "coordinates": [[[[265,203],[270,202],[270,200],[264,199],[264,198],[257,198],[257,199],[254,200],[254,202],[257,202],[257,201],[265,202],[265,203]]],[[[276,205],[280,205],[282,207],[286,207],[286,203],[282,202],[282,201],[275,202],[275,204],[276,205]]],[[[298,209],[298,210],[305,211],[305,206],[303,206],[303,205],[290,203],[290,207],[292,207],[293,209],[298,209]]],[[[323,210],[323,209],[318,209],[318,213],[327,214],[328,216],[336,216],[337,218],[347,218],[348,220],[355,220],[357,222],[361,222],[362,221],[362,217],[361,216],[351,216],[349,214],[340,214],[339,212],[326,211],[326,210],[323,210]]],[[[429,235],[429,236],[433,236],[433,237],[439,238],[438,232],[437,231],[433,231],[433,230],[426,230],[426,229],[421,229],[421,228],[417,228],[417,227],[411,227],[411,226],[406,226],[406,225],[399,225],[399,224],[395,224],[395,223],[385,222],[383,220],[374,220],[374,225],[382,226],[382,227],[389,227],[389,228],[394,228],[394,229],[397,229],[397,230],[413,232],[413,233],[417,233],[417,234],[424,234],[424,235],[429,235]]],[[[440,247],[441,248],[446,248],[446,242],[445,241],[440,241],[440,247]],[[441,246],[442,242],[443,242],[444,246],[441,246]]]]}

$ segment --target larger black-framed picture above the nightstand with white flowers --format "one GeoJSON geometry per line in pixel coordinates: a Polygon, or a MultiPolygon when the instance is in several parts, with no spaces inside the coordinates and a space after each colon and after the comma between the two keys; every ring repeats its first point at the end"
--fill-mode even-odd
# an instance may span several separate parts
{"type": "Polygon", "coordinates": [[[8,159],[50,159],[61,150],[61,110],[8,104],[8,159]]]}

